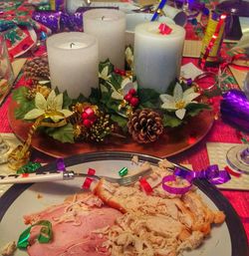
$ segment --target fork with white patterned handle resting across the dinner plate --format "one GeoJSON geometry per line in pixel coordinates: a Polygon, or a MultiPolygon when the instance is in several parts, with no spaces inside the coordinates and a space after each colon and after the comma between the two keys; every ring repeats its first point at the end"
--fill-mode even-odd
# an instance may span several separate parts
{"type": "Polygon", "coordinates": [[[87,173],[75,172],[66,170],[61,172],[43,172],[43,173],[22,173],[0,175],[0,184],[16,184],[16,183],[36,183],[46,181],[70,180],[76,177],[90,177],[96,180],[105,178],[109,182],[118,183],[120,185],[129,185],[137,181],[140,177],[148,175],[151,172],[150,168],[141,170],[133,175],[124,177],[110,177],[103,175],[91,175],[87,173]]]}

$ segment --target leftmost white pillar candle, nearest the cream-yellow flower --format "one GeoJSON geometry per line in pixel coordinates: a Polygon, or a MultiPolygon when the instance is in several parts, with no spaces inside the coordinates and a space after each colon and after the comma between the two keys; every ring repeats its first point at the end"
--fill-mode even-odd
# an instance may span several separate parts
{"type": "Polygon", "coordinates": [[[90,96],[98,87],[98,42],[80,32],[60,33],[47,40],[52,88],[67,90],[71,98],[90,96]]]}

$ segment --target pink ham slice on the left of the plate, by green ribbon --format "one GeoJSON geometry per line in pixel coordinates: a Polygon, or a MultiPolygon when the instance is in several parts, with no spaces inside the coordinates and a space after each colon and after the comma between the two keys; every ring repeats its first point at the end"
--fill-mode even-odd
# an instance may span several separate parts
{"type": "Polygon", "coordinates": [[[100,205],[101,200],[94,195],[78,196],[40,213],[25,216],[26,223],[38,220],[50,220],[53,228],[53,240],[40,244],[31,232],[28,254],[30,256],[104,256],[110,255],[103,246],[106,241],[102,234],[93,231],[112,226],[122,213],[114,208],[100,205]],[[99,205],[99,206],[98,206],[99,205]]]}

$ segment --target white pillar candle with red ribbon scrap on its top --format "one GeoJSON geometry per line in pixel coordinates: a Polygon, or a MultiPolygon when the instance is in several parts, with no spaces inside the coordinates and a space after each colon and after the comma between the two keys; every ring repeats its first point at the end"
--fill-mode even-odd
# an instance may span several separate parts
{"type": "Polygon", "coordinates": [[[165,93],[180,74],[185,30],[168,25],[169,35],[159,33],[159,22],[139,24],[134,31],[134,72],[138,85],[165,93]]]}

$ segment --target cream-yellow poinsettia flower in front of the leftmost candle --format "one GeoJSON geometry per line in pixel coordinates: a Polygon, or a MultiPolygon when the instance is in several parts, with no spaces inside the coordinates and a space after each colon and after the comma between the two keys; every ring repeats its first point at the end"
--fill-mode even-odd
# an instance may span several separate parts
{"type": "Polygon", "coordinates": [[[36,109],[33,109],[25,115],[25,120],[36,120],[39,117],[45,115],[57,123],[58,121],[64,118],[68,118],[73,114],[69,110],[62,109],[63,94],[57,96],[54,90],[51,91],[47,100],[42,94],[37,93],[35,97],[35,106],[36,109]],[[60,113],[62,116],[55,115],[56,113],[60,113]]]}

